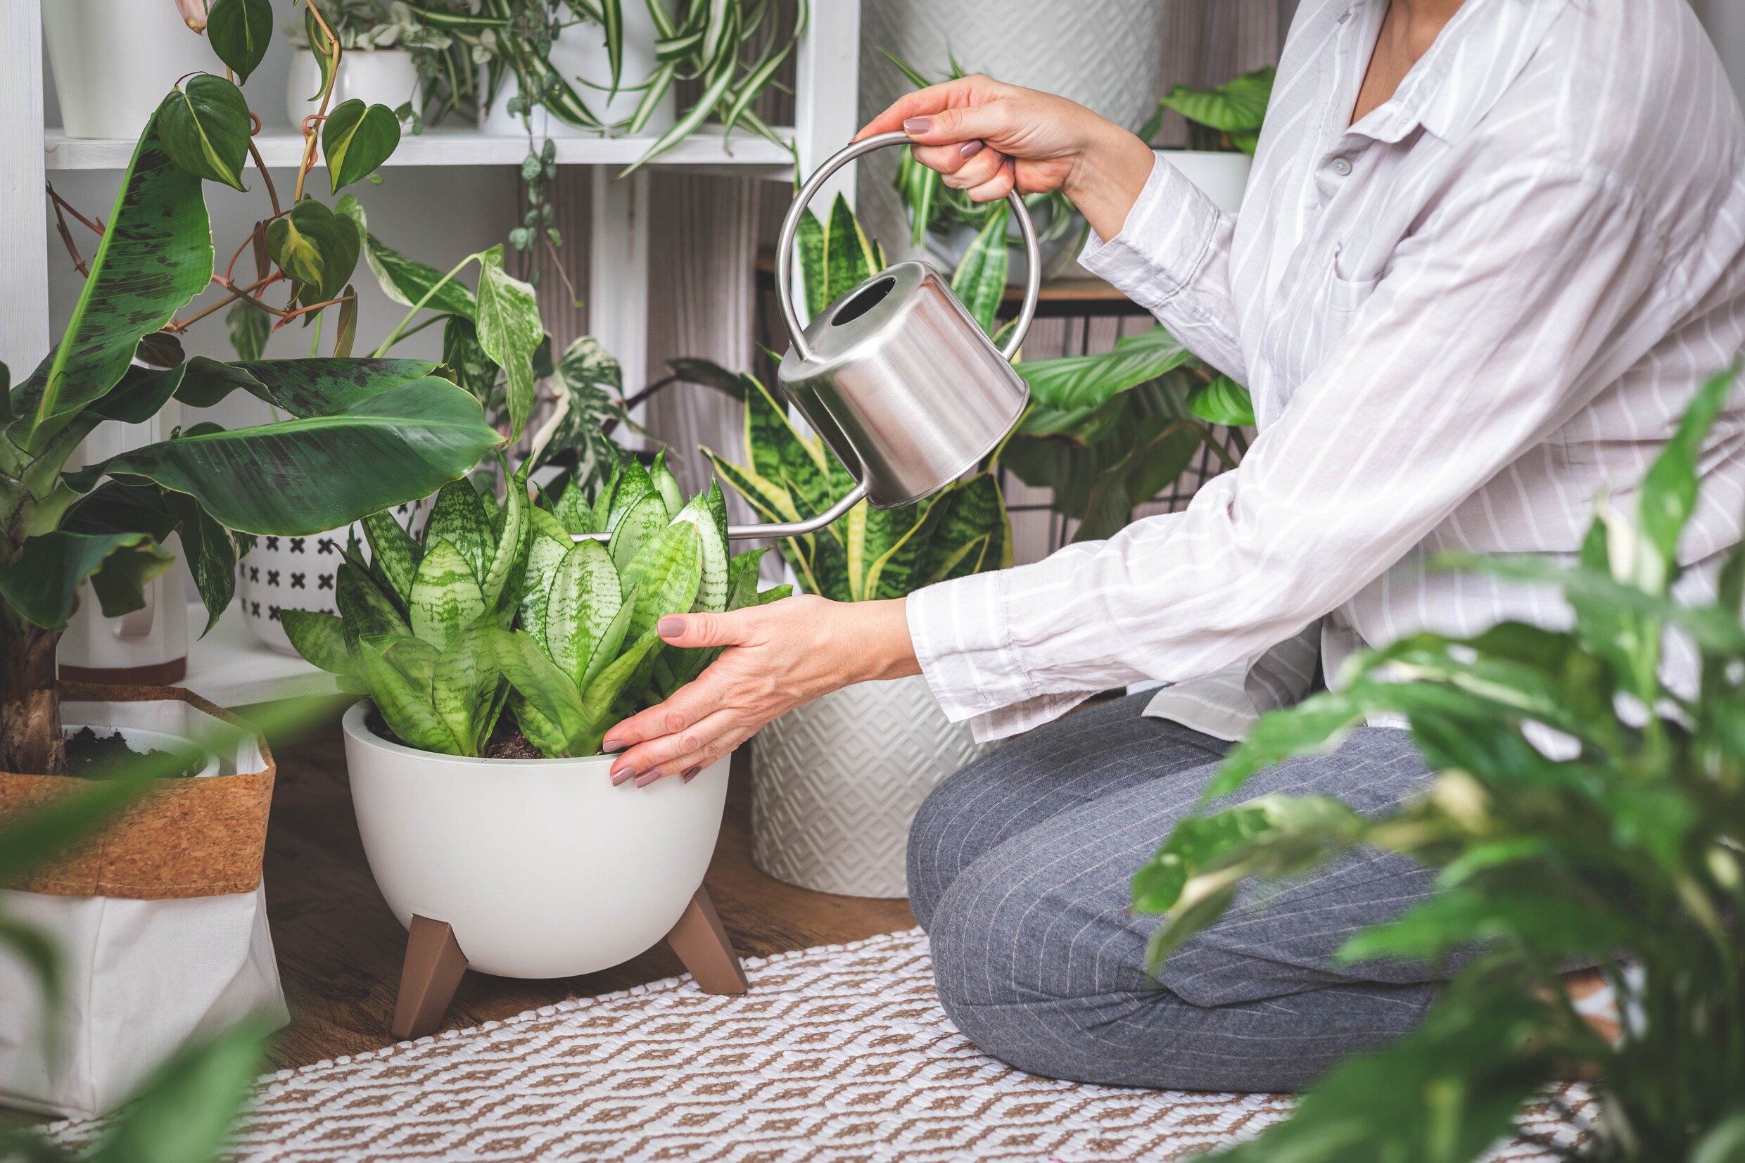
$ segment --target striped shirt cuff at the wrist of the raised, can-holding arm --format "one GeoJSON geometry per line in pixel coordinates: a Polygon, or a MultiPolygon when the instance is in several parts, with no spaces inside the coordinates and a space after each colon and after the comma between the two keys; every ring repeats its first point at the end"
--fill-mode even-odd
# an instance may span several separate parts
{"type": "Polygon", "coordinates": [[[1120,234],[1089,232],[1078,265],[1155,312],[1190,286],[1213,251],[1223,211],[1162,155],[1120,234]]]}

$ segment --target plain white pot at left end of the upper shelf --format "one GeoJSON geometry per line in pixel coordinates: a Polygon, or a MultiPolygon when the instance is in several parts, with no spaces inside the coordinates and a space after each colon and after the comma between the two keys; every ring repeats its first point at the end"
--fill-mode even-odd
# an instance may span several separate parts
{"type": "Polygon", "coordinates": [[[42,0],[42,33],[68,138],[133,141],[176,78],[223,71],[171,0],[42,0]]]}

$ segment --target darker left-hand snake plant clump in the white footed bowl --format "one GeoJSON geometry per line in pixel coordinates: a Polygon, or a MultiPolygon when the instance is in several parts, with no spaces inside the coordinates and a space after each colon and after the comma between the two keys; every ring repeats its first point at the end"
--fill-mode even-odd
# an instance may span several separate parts
{"type": "Polygon", "coordinates": [[[496,635],[515,619],[532,535],[525,467],[501,506],[452,481],[421,537],[387,513],[365,518],[363,532],[370,560],[346,547],[339,614],[284,610],[286,636],[347,689],[366,692],[407,745],[483,753],[508,697],[496,635]]]}

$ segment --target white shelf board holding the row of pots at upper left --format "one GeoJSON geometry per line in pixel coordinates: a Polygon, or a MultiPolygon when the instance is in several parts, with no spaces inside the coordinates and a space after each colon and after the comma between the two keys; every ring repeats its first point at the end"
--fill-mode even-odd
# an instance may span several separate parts
{"type": "MultiPolygon", "coordinates": [[[[792,129],[777,127],[792,136],[792,129]]],[[[628,166],[642,157],[653,138],[553,138],[560,166],[628,166]]],[[[133,157],[133,141],[110,138],[68,138],[59,129],[44,136],[49,169],[124,169],[133,157]]],[[[297,166],[304,139],[295,133],[262,133],[255,138],[267,166],[297,166]]],[[[527,138],[492,136],[476,129],[426,129],[403,136],[387,166],[520,166],[527,157],[527,138]]],[[[721,133],[703,129],[661,153],[654,166],[721,169],[745,176],[792,178],[792,155],[766,138],[735,129],[722,148],[721,133]]]]}

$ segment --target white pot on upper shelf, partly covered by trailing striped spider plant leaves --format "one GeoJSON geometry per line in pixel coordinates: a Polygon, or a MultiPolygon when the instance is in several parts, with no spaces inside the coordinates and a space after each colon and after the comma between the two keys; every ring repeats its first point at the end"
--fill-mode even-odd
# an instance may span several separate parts
{"type": "MultiPolygon", "coordinates": [[[[625,45],[619,84],[639,85],[660,65],[654,56],[654,17],[649,16],[646,3],[626,3],[623,19],[625,45]]],[[[630,120],[630,115],[637,112],[637,103],[642,99],[640,91],[619,91],[607,99],[606,89],[592,87],[611,84],[612,78],[612,61],[606,52],[606,30],[599,24],[565,24],[557,40],[551,42],[551,66],[574,85],[583,103],[607,126],[630,120]]],[[[483,84],[485,73],[480,70],[480,85],[483,84]]],[[[530,124],[536,138],[604,136],[600,129],[567,126],[551,117],[544,106],[532,110],[524,122],[520,113],[510,113],[510,98],[517,92],[520,87],[511,73],[504,77],[496,99],[480,106],[478,127],[482,133],[525,138],[530,124]]],[[[672,129],[675,108],[675,94],[668,89],[639,136],[656,138],[672,129]]]]}

